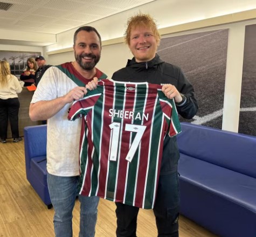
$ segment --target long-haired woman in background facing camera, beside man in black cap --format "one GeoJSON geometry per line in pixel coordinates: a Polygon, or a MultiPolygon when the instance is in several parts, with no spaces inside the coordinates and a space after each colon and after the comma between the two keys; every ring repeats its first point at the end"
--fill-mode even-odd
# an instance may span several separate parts
{"type": "Polygon", "coordinates": [[[25,82],[24,86],[31,86],[34,83],[35,73],[38,67],[34,58],[28,58],[26,64],[27,66],[19,79],[25,82]]]}

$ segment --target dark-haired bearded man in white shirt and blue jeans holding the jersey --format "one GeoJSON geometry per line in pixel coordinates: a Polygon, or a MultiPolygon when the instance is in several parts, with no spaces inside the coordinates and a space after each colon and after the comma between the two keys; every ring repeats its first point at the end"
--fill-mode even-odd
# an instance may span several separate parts
{"type": "MultiPolygon", "coordinates": [[[[91,26],[74,33],[75,61],[52,66],[43,75],[35,91],[29,115],[32,121],[47,120],[47,184],[54,207],[54,232],[57,237],[72,236],[72,212],[79,178],[79,140],[81,120],[67,120],[68,109],[96,78],[107,75],[95,68],[100,60],[101,37],[91,26]]],[[[94,236],[98,197],[79,195],[79,236],[94,236]]]]}

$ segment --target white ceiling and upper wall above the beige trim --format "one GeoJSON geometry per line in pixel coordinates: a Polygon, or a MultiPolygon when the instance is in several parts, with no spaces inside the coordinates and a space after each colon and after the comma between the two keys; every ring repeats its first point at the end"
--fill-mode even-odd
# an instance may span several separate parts
{"type": "Polygon", "coordinates": [[[135,9],[153,13],[157,24],[164,28],[256,9],[256,1],[0,0],[1,50],[8,48],[8,45],[53,45],[56,44],[58,36],[70,36],[70,30],[88,24],[96,25],[96,29],[107,39],[117,38],[120,34],[117,36],[116,32],[123,32],[126,15],[135,9]],[[6,4],[11,5],[7,10],[3,10],[6,4]],[[103,21],[100,20],[103,18],[103,21]]]}

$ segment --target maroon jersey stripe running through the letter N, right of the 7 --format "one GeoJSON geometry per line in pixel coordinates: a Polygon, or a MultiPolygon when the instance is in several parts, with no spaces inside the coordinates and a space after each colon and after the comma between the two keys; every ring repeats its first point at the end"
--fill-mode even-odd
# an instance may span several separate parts
{"type": "MultiPolygon", "coordinates": [[[[136,189],[136,197],[135,197],[135,205],[142,207],[143,205],[143,196],[144,196],[144,187],[147,184],[146,177],[147,177],[147,166],[149,165],[148,157],[149,157],[149,145],[150,145],[150,137],[151,135],[151,126],[153,126],[152,122],[154,107],[156,102],[156,92],[151,92],[151,89],[148,93],[148,98],[146,102],[146,108],[144,113],[149,114],[148,121],[144,120],[143,125],[147,126],[141,140],[141,156],[140,164],[139,164],[139,177],[137,178],[137,189],[136,189]]],[[[152,148],[151,148],[152,149],[152,148]]]]}

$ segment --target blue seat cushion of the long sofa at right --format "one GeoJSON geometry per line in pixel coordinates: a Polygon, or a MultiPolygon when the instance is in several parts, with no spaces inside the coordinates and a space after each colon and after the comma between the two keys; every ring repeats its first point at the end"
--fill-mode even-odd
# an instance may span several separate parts
{"type": "Polygon", "coordinates": [[[233,204],[256,214],[255,178],[184,154],[179,159],[178,172],[186,182],[229,199],[233,204]]]}

